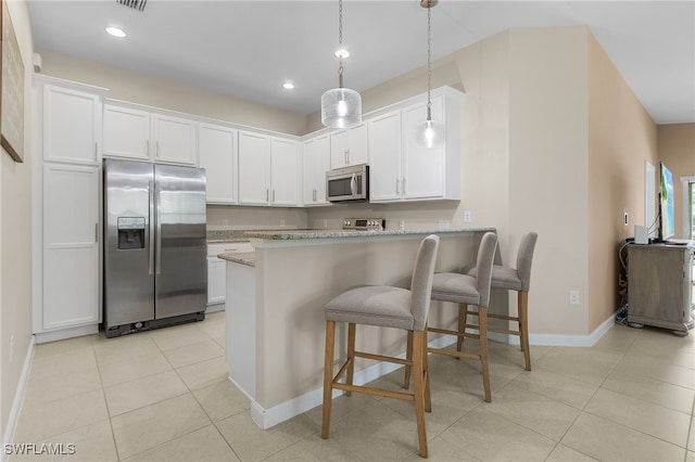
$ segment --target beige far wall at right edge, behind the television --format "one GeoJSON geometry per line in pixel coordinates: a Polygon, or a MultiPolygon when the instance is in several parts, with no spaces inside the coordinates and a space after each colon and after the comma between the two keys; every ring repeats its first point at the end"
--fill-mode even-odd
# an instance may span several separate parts
{"type": "Polygon", "coordinates": [[[687,239],[683,226],[687,203],[683,203],[681,177],[695,177],[695,124],[660,125],[657,132],[659,161],[673,174],[675,238],[687,239]]]}

